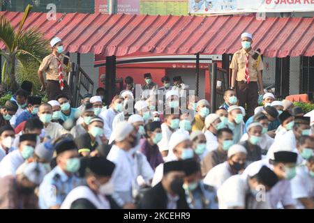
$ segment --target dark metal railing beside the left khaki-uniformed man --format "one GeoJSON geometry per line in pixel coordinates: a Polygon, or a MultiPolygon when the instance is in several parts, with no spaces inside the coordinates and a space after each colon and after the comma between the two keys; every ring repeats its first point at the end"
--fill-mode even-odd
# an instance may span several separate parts
{"type": "Polygon", "coordinates": [[[85,93],[94,92],[94,82],[87,73],[77,64],[72,63],[72,71],[68,77],[68,83],[72,93],[72,106],[78,107],[85,93]]]}

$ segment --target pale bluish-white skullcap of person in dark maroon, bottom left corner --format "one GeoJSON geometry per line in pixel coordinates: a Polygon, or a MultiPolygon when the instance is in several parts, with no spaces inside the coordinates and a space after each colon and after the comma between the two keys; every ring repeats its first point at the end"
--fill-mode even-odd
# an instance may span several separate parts
{"type": "Polygon", "coordinates": [[[47,174],[47,170],[43,167],[43,164],[30,162],[25,165],[22,173],[29,179],[29,181],[36,185],[40,185],[44,176],[47,174]]]}

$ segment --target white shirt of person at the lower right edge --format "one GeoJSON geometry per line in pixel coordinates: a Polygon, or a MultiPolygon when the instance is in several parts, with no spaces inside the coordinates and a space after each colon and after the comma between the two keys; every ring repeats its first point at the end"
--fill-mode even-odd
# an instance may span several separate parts
{"type": "Polygon", "coordinates": [[[306,166],[297,167],[297,176],[294,176],[291,183],[292,198],[296,199],[296,207],[304,209],[303,204],[298,200],[300,198],[314,199],[314,177],[308,173],[306,166]]]}

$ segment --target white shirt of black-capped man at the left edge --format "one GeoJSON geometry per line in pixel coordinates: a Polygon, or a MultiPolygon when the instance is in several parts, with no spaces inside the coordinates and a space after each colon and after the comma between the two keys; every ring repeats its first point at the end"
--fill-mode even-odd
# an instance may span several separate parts
{"type": "Polygon", "coordinates": [[[0,162],[0,178],[8,175],[15,176],[17,168],[19,168],[23,162],[24,158],[22,157],[20,150],[15,150],[6,155],[0,162]]]}

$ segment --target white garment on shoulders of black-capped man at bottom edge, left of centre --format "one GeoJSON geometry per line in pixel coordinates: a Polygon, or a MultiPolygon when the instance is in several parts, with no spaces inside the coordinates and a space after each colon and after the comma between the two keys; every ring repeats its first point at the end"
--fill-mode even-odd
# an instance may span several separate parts
{"type": "Polygon", "coordinates": [[[95,194],[87,186],[79,186],[71,190],[61,204],[60,209],[70,209],[71,204],[77,199],[87,199],[93,203],[97,209],[110,209],[110,203],[105,196],[95,194]]]}

